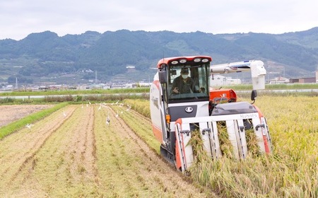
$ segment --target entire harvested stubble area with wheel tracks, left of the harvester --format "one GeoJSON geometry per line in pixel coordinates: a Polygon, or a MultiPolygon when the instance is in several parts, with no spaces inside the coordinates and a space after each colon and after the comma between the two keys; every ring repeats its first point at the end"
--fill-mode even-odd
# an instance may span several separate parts
{"type": "Polygon", "coordinates": [[[149,120],[98,107],[68,105],[2,139],[0,197],[213,196],[165,163],[122,117],[149,120]]]}

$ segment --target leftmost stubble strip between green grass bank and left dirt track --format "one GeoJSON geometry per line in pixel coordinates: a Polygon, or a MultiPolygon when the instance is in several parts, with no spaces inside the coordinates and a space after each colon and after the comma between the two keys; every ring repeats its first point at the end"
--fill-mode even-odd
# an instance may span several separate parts
{"type": "Polygon", "coordinates": [[[10,185],[13,182],[20,170],[35,156],[49,136],[71,117],[75,107],[69,106],[66,110],[69,112],[66,117],[63,117],[59,110],[45,120],[36,122],[30,130],[21,129],[0,141],[0,150],[3,151],[0,158],[1,183],[10,185]],[[54,124],[51,124],[52,122],[54,124]]]}

